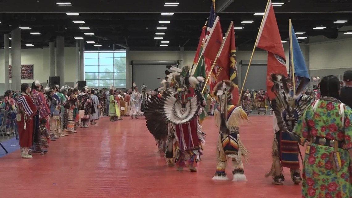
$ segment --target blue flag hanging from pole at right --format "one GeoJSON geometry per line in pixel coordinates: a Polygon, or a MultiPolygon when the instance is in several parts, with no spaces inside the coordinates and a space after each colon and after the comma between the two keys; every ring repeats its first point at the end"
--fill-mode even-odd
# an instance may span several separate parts
{"type": "MultiPolygon", "coordinates": [[[[291,58],[293,58],[293,64],[295,68],[295,87],[299,85],[300,81],[304,80],[305,85],[307,85],[310,81],[306,62],[304,61],[304,57],[300,48],[300,45],[298,44],[298,40],[295,34],[295,30],[293,29],[293,26],[291,25],[291,37],[292,37],[292,47],[290,46],[290,51],[289,51],[289,65],[290,65],[290,74],[292,75],[292,64],[291,64],[291,58]],[[291,48],[292,48],[292,54],[293,57],[291,57],[291,48]]],[[[291,42],[290,42],[291,45],[291,42]]]]}

